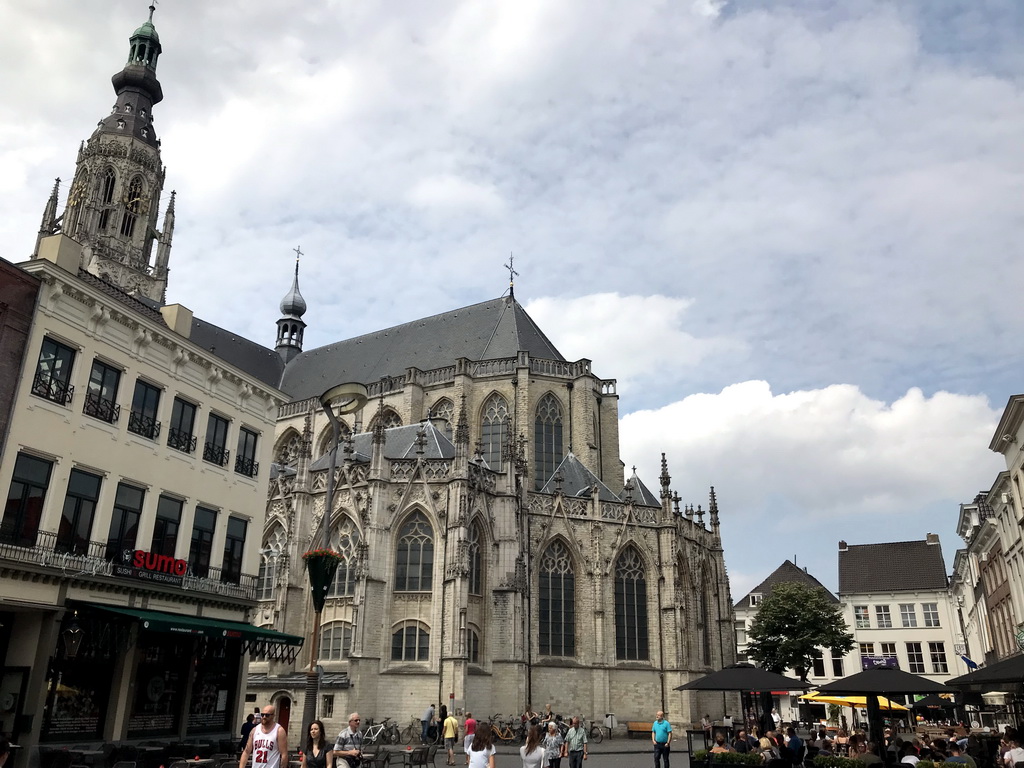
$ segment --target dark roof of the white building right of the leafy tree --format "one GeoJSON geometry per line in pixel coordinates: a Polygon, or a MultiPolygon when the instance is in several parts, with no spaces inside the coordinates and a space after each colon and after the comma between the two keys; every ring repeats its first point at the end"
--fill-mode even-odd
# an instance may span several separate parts
{"type": "Polygon", "coordinates": [[[946,565],[935,543],[886,542],[848,545],[839,552],[839,593],[944,590],[946,565]]]}

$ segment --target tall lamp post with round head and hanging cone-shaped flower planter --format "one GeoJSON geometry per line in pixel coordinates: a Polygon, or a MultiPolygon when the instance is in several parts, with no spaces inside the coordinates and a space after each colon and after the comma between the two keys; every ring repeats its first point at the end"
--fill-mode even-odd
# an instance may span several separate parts
{"type": "Polygon", "coordinates": [[[321,615],[324,612],[324,600],[327,598],[331,582],[338,570],[338,558],[332,556],[331,550],[331,514],[334,511],[334,473],[338,468],[338,442],[341,435],[341,422],[338,416],[358,411],[366,403],[367,388],[357,382],[338,384],[321,395],[321,406],[331,421],[331,466],[327,475],[327,498],[324,503],[324,516],[321,518],[321,539],[313,542],[310,552],[303,557],[306,571],[309,573],[309,587],[313,598],[313,627],[309,643],[309,669],[306,671],[305,703],[302,708],[302,735],[298,743],[304,743],[305,734],[309,732],[309,724],[316,719],[316,699],[319,694],[319,671],[316,662],[319,658],[319,627],[321,615]],[[311,553],[323,552],[323,555],[311,553]]]}

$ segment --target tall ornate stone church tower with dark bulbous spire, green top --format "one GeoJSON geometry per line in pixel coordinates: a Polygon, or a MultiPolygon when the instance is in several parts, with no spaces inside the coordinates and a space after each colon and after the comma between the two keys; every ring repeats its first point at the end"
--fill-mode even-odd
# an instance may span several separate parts
{"type": "MultiPolygon", "coordinates": [[[[150,18],[132,33],[128,61],[112,78],[117,101],[78,152],[63,213],[57,187],[47,202],[39,240],[63,232],[82,245],[81,266],[127,293],[163,302],[167,290],[174,198],[157,229],[164,166],[153,108],[164,93],[157,80],[162,48],[150,18]],[[156,260],[154,245],[156,244],[156,260]]],[[[35,258],[39,242],[36,244],[35,258]]]]}

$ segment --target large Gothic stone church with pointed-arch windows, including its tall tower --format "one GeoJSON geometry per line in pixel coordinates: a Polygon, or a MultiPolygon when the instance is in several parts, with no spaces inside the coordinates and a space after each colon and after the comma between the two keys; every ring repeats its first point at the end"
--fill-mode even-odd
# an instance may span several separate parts
{"type": "MultiPolygon", "coordinates": [[[[158,216],[152,13],[130,46],[142,66],[115,75],[117,102],[79,148],[59,215],[53,188],[40,243],[67,234],[84,274],[159,310],[175,222],[173,193],[158,216]]],[[[297,261],[272,346],[191,328],[285,399],[253,438],[271,462],[250,615],[306,640],[254,656],[245,709],[272,702],[293,733],[311,708],[330,733],[353,710],[404,726],[430,703],[483,718],[550,703],[621,724],[720,709],[675,690],[735,657],[715,492],[684,502],[665,455],[649,485],[625,471],[614,379],[566,359],[512,285],[306,348],[299,276],[297,261]],[[365,394],[328,403],[336,439],[322,395],[340,384],[365,394]],[[303,554],[325,540],[341,560],[317,628],[303,554]]],[[[198,424],[199,444],[222,451],[217,428],[198,424]]]]}

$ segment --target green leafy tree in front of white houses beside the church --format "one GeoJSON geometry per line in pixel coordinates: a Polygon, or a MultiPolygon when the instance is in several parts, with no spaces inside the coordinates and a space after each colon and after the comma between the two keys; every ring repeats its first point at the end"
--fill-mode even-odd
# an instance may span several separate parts
{"type": "Polygon", "coordinates": [[[748,652],[762,668],[779,674],[793,670],[804,681],[818,649],[846,653],[853,648],[839,604],[822,589],[795,582],[775,585],[748,636],[748,652]]]}

